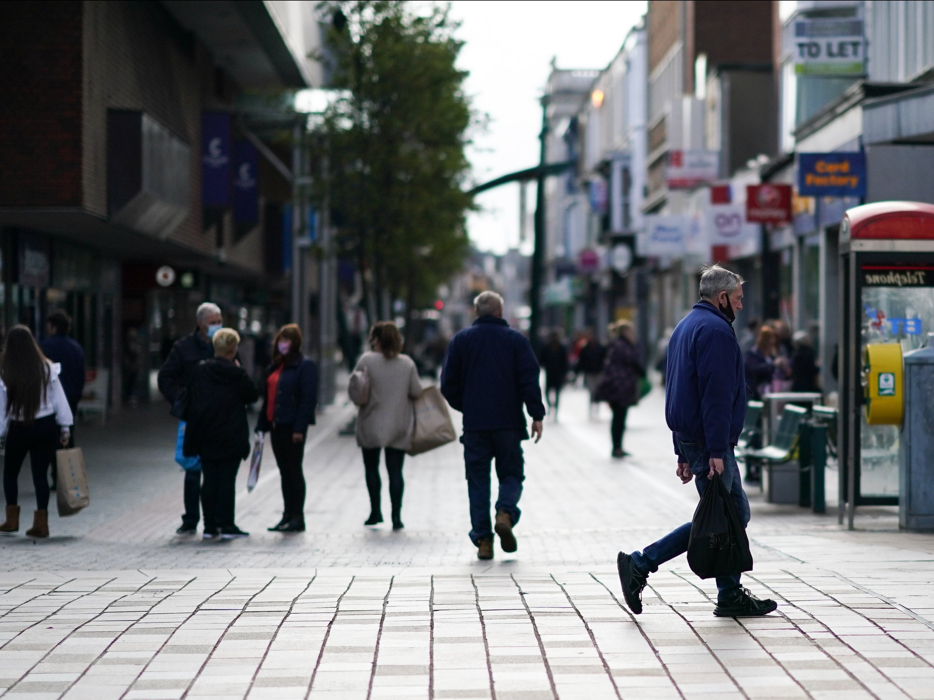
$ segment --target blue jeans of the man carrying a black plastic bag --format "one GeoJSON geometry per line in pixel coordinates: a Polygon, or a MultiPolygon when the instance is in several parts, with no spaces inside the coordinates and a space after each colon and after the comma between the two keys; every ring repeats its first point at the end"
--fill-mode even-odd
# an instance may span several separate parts
{"type": "MultiPolygon", "coordinates": [[[[677,438],[675,438],[677,440],[677,438]]],[[[686,458],[690,465],[691,473],[694,474],[694,483],[697,484],[698,493],[703,496],[707,490],[710,480],[707,474],[710,473],[710,453],[702,442],[683,442],[677,440],[678,449],[686,458]]],[[[743,491],[743,480],[740,478],[740,469],[736,466],[736,457],[733,456],[733,450],[730,448],[729,455],[723,459],[723,485],[727,487],[730,496],[736,504],[736,511],[743,521],[743,527],[749,524],[749,500],[746,498],[746,492],[743,491]]],[[[655,573],[658,566],[673,559],[679,554],[687,552],[687,542],[691,537],[691,524],[685,523],[677,529],[672,530],[662,539],[653,542],[642,552],[632,553],[632,562],[639,567],[643,573],[655,573]]],[[[736,595],[740,589],[740,574],[735,576],[718,576],[716,578],[716,589],[718,591],[717,601],[725,602],[736,595]]]]}

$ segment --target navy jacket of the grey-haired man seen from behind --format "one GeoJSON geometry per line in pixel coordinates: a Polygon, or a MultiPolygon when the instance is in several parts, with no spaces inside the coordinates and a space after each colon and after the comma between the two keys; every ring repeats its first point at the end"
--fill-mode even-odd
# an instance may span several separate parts
{"type": "MultiPolygon", "coordinates": [[[[441,393],[464,414],[464,430],[525,430],[545,417],[539,367],[529,340],[502,318],[485,315],[447,346],[441,393]]],[[[527,434],[528,437],[528,434],[527,434]]]]}

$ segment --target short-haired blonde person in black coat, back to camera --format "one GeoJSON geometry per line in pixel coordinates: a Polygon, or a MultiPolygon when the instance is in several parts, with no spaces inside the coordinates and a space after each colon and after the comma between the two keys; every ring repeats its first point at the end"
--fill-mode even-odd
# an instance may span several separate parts
{"type": "Polygon", "coordinates": [[[185,456],[200,456],[205,482],[201,507],[205,539],[247,537],[233,524],[234,483],[240,462],[249,456],[247,405],[259,398],[247,371],[233,360],[240,336],[219,329],[212,339],[214,358],[191,375],[184,411],[185,456]]]}

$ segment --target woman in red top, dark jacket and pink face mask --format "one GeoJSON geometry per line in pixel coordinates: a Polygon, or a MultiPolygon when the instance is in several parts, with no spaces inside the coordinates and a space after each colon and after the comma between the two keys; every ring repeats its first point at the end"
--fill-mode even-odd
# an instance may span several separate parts
{"type": "Polygon", "coordinates": [[[315,425],[318,366],[302,355],[302,331],[293,323],[273,339],[273,364],[266,369],[257,432],[271,433],[282,479],[282,520],[272,532],[304,532],[304,439],[315,425]]]}

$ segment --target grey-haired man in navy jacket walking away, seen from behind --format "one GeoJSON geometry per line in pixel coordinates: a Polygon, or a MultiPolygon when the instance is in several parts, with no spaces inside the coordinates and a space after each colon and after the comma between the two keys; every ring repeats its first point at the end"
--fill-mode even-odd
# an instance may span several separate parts
{"type": "Polygon", "coordinates": [[[519,522],[522,494],[522,441],[529,440],[524,403],[532,419],[531,432],[542,438],[542,389],[539,366],[529,340],[502,319],[502,297],[483,292],[474,300],[477,318],[447,346],[441,393],[463,413],[464,462],[470,497],[470,539],[477,557],[493,558],[489,519],[489,465],[496,458],[500,495],[496,501],[496,534],[503,552],[516,552],[513,527],[519,522]]]}

